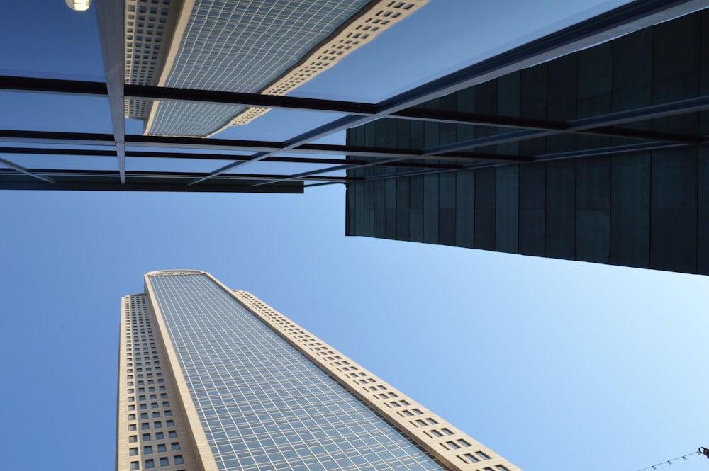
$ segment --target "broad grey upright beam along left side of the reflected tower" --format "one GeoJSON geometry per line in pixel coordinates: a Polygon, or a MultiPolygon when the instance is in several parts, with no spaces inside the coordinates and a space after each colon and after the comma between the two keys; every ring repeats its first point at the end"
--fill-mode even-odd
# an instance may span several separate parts
{"type": "Polygon", "coordinates": [[[116,145],[118,174],[125,183],[125,0],[98,0],[96,19],[99,23],[101,55],[104,57],[108,108],[111,111],[113,142],[116,145]]]}

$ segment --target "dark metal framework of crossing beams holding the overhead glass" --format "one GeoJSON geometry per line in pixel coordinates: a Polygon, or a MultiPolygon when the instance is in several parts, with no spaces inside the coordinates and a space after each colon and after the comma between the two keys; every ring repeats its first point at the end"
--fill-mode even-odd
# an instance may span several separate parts
{"type": "Polygon", "coordinates": [[[604,38],[613,37],[614,34],[627,33],[629,29],[652,25],[659,21],[658,18],[666,16],[668,11],[678,9],[681,11],[683,8],[696,9],[697,4],[700,4],[697,0],[637,0],[380,103],[361,103],[123,84],[124,1],[99,1],[96,2],[96,8],[106,83],[0,76],[0,89],[106,97],[113,133],[0,130],[0,142],[9,144],[0,146],[0,164],[6,167],[0,169],[0,188],[301,193],[305,186],[702,145],[707,142],[707,139],[700,135],[657,132],[622,126],[709,110],[709,96],[569,121],[433,110],[421,106],[426,101],[489,81],[513,70],[530,67],[553,57],[574,52],[581,47],[588,47],[601,42],[604,38]],[[222,103],[303,112],[344,113],[346,116],[284,142],[125,135],[123,106],[126,98],[222,103]],[[334,132],[381,118],[486,126],[492,127],[494,132],[487,137],[421,149],[313,143],[334,132]],[[476,152],[476,149],[495,144],[563,134],[623,137],[626,140],[623,144],[563,154],[520,155],[476,152]],[[629,143],[628,140],[632,142],[629,143]],[[34,147],[29,147],[32,145],[34,147]],[[87,146],[91,149],[86,148],[87,146]],[[180,152],[174,152],[174,149],[180,149],[180,152]],[[185,150],[190,152],[184,152],[185,150]],[[283,154],[286,153],[289,155],[284,156],[283,154]],[[108,157],[116,159],[117,168],[115,171],[27,169],[7,158],[18,154],[51,155],[57,158],[68,155],[108,157]],[[344,156],[348,158],[345,160],[344,156]],[[208,159],[224,160],[229,163],[208,173],[127,171],[126,158],[208,159]],[[235,173],[242,166],[257,161],[328,166],[290,175],[235,173]],[[395,171],[358,178],[331,175],[335,171],[363,166],[380,166],[395,171]]]}

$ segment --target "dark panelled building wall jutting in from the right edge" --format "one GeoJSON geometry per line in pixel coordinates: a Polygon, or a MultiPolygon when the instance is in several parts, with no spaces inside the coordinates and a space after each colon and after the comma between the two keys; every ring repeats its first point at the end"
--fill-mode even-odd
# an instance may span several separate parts
{"type": "Polygon", "coordinates": [[[708,103],[707,11],[501,74],[348,131],[447,168],[348,170],[347,234],[709,274],[708,103]]]}

